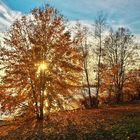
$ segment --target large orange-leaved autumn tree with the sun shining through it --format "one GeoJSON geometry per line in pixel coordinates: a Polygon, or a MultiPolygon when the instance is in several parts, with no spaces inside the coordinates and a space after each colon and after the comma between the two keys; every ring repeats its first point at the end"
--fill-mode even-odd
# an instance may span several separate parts
{"type": "Polygon", "coordinates": [[[63,108],[65,98],[72,97],[81,82],[82,55],[77,42],[64,17],[48,5],[17,20],[0,47],[1,110],[28,110],[43,119],[44,112],[63,108]]]}

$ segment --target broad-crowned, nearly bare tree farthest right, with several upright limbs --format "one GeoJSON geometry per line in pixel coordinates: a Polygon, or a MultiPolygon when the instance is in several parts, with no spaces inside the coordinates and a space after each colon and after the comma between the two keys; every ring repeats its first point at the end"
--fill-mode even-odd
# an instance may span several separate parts
{"type": "Polygon", "coordinates": [[[110,35],[106,37],[104,61],[112,69],[112,84],[117,96],[117,103],[123,101],[126,72],[134,65],[135,48],[133,35],[128,29],[119,28],[116,32],[111,31],[110,35]]]}

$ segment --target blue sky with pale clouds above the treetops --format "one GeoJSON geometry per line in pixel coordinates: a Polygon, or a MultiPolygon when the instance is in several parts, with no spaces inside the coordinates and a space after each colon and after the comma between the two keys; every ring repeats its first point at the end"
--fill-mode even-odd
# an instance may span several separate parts
{"type": "Polygon", "coordinates": [[[57,8],[70,21],[80,20],[87,24],[92,24],[102,11],[113,28],[125,26],[140,37],[140,0],[0,0],[0,23],[3,5],[12,13],[10,22],[13,22],[45,3],[57,8]]]}

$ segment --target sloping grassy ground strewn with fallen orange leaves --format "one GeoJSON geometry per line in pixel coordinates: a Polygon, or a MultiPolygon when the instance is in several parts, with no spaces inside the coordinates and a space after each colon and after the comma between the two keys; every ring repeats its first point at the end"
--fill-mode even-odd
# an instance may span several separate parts
{"type": "Polygon", "coordinates": [[[52,114],[0,125],[0,140],[140,140],[140,103],[52,114]]]}

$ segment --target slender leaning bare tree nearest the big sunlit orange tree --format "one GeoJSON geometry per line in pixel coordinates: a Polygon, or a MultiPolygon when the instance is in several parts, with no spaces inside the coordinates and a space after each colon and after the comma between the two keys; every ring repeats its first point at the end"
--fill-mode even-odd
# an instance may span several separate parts
{"type": "Polygon", "coordinates": [[[81,25],[79,22],[76,24],[76,36],[80,38],[80,48],[82,50],[83,55],[83,68],[84,68],[84,74],[83,74],[83,88],[88,89],[88,100],[87,97],[84,97],[86,100],[86,107],[92,107],[93,106],[93,100],[92,100],[92,93],[91,93],[91,82],[89,79],[89,53],[90,53],[90,44],[88,43],[88,36],[90,34],[87,27],[81,25]],[[86,81],[86,84],[85,84],[86,81]],[[88,103],[89,102],[89,103],[88,103]]]}

